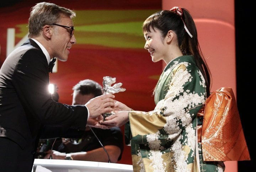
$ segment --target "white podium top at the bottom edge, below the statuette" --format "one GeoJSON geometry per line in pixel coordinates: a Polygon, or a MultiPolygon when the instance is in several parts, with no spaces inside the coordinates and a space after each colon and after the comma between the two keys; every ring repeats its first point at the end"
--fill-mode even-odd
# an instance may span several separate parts
{"type": "Polygon", "coordinates": [[[32,172],[133,172],[132,165],[75,161],[35,159],[32,172]]]}

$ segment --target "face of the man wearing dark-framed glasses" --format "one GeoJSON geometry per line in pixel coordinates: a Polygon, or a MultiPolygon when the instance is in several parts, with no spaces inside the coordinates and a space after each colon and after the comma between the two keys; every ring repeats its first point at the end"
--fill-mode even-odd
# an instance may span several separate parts
{"type": "MultiPolygon", "coordinates": [[[[60,20],[55,23],[63,26],[73,27],[73,21],[70,17],[62,16],[60,20]]],[[[74,34],[70,37],[70,28],[62,26],[54,26],[51,37],[51,56],[56,57],[60,61],[68,60],[69,50],[72,45],[76,43],[74,34]]]]}

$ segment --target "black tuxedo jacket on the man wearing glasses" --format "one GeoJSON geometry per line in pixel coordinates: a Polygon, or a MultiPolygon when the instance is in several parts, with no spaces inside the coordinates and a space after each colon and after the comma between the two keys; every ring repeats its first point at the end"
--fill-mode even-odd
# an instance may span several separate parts
{"type": "MultiPolygon", "coordinates": [[[[15,143],[21,152],[6,156],[31,169],[40,138],[78,137],[86,127],[87,108],[53,101],[48,85],[46,56],[32,39],[11,52],[0,69],[0,153],[12,149],[3,148],[2,139],[15,143]]],[[[4,158],[0,155],[1,170],[4,158]]]]}

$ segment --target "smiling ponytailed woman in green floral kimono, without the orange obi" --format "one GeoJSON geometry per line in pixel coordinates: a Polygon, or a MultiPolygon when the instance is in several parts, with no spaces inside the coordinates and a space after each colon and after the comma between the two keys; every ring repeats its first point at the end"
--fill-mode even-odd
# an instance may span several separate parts
{"type": "Polygon", "coordinates": [[[152,61],[166,63],[154,90],[156,107],[131,111],[117,101],[116,113],[101,124],[126,123],[136,172],[224,171],[223,162],[203,161],[197,141],[197,113],[210,95],[210,72],[190,13],[179,7],[156,12],[144,21],[143,33],[152,61]]]}

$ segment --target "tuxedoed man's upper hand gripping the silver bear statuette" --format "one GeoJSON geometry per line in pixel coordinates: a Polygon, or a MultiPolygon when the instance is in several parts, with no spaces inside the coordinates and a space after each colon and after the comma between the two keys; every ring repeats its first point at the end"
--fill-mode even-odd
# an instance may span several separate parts
{"type": "Polygon", "coordinates": [[[98,117],[99,115],[113,111],[114,95],[104,94],[89,100],[85,106],[89,109],[90,118],[98,117]]]}

